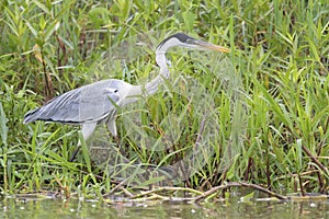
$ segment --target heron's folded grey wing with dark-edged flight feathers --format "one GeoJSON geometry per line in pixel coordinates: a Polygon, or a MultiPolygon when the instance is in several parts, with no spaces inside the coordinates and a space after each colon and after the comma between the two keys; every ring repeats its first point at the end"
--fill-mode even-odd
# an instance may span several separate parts
{"type": "Polygon", "coordinates": [[[24,123],[53,120],[83,124],[102,120],[115,114],[116,103],[120,101],[118,93],[111,84],[111,80],[105,80],[64,93],[27,113],[24,123]]]}

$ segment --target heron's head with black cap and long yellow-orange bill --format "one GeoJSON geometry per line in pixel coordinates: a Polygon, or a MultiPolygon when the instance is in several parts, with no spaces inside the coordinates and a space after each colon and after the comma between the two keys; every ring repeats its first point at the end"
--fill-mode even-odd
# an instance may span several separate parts
{"type": "Polygon", "coordinates": [[[182,33],[178,33],[169,36],[164,41],[162,41],[157,47],[158,51],[167,51],[167,49],[180,46],[192,49],[202,49],[202,50],[217,50],[222,53],[228,53],[229,49],[223,46],[217,46],[207,42],[195,39],[191,36],[188,36],[182,33]]]}

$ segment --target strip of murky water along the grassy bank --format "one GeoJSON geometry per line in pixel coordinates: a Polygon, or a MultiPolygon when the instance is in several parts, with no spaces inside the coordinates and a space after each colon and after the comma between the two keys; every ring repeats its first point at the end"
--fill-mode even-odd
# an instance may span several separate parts
{"type": "Polygon", "coordinates": [[[0,218],[329,218],[329,201],[232,199],[202,205],[161,201],[109,205],[95,200],[5,198],[0,201],[0,218]]]}

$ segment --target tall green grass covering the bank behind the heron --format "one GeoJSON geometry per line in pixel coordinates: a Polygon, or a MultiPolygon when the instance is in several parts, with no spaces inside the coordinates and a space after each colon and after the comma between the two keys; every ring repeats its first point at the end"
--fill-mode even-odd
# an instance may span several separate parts
{"type": "Polygon", "coordinates": [[[172,177],[164,184],[196,189],[247,181],[279,193],[328,193],[325,0],[2,0],[0,10],[2,193],[100,196],[122,181],[128,188],[161,184],[164,170],[172,177]],[[177,32],[231,53],[169,53],[171,78],[120,114],[120,148],[99,127],[68,162],[78,127],[22,124],[27,111],[80,85],[155,77],[154,49],[177,32]],[[177,174],[186,168],[180,161],[193,169],[177,174]]]}

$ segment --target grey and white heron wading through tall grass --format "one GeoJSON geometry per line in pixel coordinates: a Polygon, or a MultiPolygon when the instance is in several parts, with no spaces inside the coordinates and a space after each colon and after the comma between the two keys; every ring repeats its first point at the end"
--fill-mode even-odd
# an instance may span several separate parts
{"type": "MultiPolygon", "coordinates": [[[[98,124],[105,123],[111,135],[117,139],[115,117],[118,107],[147,97],[157,92],[163,80],[170,77],[167,50],[184,47],[202,50],[228,53],[229,49],[212,43],[195,39],[186,34],[177,33],[164,38],[156,48],[156,62],[160,68],[158,76],[144,85],[133,85],[123,80],[107,79],[90,83],[54,97],[44,106],[35,108],[24,116],[24,124],[35,120],[80,125],[83,140],[94,131],[98,124]]],[[[80,148],[81,141],[78,142],[80,148]]],[[[73,160],[78,150],[73,152],[73,160]]]]}

